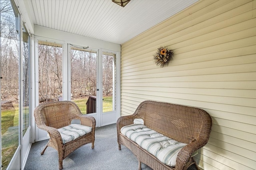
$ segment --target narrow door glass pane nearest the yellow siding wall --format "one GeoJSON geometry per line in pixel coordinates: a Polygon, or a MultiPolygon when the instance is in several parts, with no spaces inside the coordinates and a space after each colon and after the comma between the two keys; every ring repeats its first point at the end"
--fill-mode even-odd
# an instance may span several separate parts
{"type": "Polygon", "coordinates": [[[102,55],[102,112],[115,110],[115,55],[102,55]]]}

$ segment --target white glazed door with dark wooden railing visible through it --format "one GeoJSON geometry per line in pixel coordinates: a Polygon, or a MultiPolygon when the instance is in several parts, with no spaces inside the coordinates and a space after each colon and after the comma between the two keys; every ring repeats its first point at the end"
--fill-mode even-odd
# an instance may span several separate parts
{"type": "Polygon", "coordinates": [[[98,49],[68,44],[68,100],[75,102],[83,114],[92,115],[97,127],[98,56],[98,49]]]}

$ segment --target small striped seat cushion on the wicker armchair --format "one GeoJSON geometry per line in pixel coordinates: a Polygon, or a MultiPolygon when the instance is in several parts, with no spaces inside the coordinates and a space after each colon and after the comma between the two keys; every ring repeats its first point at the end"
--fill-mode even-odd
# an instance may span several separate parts
{"type": "Polygon", "coordinates": [[[87,133],[90,133],[92,131],[92,127],[79,124],[71,124],[58,129],[58,131],[60,132],[63,144],[65,144],[87,133]]]}

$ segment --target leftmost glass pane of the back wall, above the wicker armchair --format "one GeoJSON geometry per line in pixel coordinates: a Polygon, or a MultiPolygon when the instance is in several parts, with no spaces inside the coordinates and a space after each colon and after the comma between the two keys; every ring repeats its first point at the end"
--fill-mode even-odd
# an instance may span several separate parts
{"type": "Polygon", "coordinates": [[[39,103],[62,100],[62,44],[38,41],[39,103]]]}

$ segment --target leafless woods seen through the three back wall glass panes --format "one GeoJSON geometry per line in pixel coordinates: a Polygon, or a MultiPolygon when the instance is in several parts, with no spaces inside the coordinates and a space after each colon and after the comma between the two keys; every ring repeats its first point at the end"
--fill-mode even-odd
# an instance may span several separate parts
{"type": "MultiPolygon", "coordinates": [[[[62,45],[38,45],[39,102],[49,102],[62,97],[62,45]],[[58,47],[57,47],[58,46],[58,47]]],[[[95,51],[70,50],[71,98],[96,96],[97,55],[95,51]]],[[[112,96],[113,56],[102,56],[103,94],[112,96]]],[[[66,76],[66,75],[65,75],[66,76]]]]}

